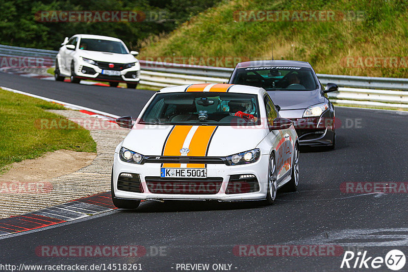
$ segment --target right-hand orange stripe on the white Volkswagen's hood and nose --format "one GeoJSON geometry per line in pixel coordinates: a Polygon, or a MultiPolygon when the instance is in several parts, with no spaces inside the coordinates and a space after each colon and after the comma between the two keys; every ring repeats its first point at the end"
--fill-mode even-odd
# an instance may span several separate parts
{"type": "MultiPolygon", "coordinates": [[[[199,126],[191,139],[189,156],[205,156],[211,135],[217,126],[199,126]]],[[[187,164],[188,168],[204,168],[204,164],[187,164]]]]}

